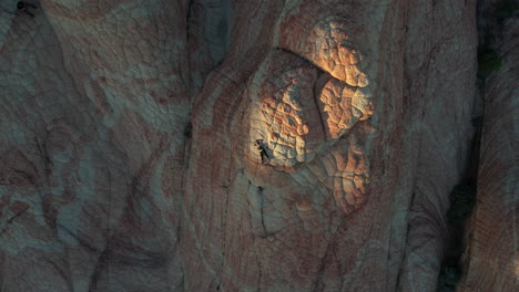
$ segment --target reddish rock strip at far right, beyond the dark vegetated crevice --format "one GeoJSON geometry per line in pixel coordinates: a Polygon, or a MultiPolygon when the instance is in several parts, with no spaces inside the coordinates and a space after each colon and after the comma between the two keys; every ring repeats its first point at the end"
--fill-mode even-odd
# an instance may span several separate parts
{"type": "Polygon", "coordinates": [[[485,87],[478,201],[465,253],[461,291],[519,290],[519,21],[503,28],[502,66],[485,87]]]}

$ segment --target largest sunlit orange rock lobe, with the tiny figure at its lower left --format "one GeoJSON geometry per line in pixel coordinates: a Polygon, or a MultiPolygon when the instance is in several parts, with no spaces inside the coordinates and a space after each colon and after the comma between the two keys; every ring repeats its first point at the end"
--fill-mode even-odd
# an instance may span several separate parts
{"type": "Polygon", "coordinates": [[[307,161],[314,157],[312,152],[324,143],[314,100],[318,74],[319,70],[303,59],[274,51],[253,77],[248,92],[250,137],[263,139],[267,145],[271,165],[292,167],[307,161]]]}

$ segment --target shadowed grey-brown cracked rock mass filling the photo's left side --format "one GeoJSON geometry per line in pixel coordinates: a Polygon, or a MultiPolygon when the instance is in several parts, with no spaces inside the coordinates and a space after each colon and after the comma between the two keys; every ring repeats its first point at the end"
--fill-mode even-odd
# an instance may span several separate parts
{"type": "Polygon", "coordinates": [[[2,291],[175,289],[186,6],[41,4],[1,15],[2,291]]]}

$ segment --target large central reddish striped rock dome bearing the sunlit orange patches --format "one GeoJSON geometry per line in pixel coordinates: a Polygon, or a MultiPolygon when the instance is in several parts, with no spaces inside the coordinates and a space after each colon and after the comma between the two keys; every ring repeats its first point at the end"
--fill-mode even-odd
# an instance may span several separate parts
{"type": "Polygon", "coordinates": [[[251,17],[194,97],[185,288],[435,291],[472,131],[474,7],[236,2],[251,17]]]}

